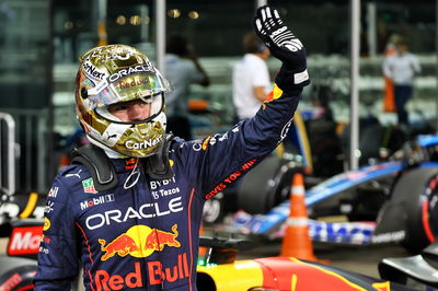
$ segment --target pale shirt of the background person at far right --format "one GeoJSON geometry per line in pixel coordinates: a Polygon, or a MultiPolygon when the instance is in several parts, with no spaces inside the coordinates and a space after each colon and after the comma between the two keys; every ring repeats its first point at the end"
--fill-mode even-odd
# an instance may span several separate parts
{"type": "Polygon", "coordinates": [[[418,58],[410,53],[395,53],[383,62],[383,74],[396,85],[412,85],[415,73],[420,71],[418,58]]]}

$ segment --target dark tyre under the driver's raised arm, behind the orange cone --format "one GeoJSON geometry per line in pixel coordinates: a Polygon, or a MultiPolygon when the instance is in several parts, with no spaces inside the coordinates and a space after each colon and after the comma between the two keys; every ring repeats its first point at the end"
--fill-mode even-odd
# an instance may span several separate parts
{"type": "Polygon", "coordinates": [[[266,156],[239,184],[239,208],[250,214],[266,213],[288,198],[290,182],[297,171],[286,159],[266,156]]]}

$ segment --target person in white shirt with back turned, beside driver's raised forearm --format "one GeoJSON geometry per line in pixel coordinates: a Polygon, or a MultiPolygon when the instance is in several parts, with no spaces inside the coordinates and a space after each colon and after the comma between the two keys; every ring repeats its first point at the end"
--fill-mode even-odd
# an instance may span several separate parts
{"type": "Polygon", "coordinates": [[[243,36],[242,45],[245,54],[232,72],[232,98],[238,120],[253,117],[270,88],[266,65],[269,49],[253,32],[243,36]]]}

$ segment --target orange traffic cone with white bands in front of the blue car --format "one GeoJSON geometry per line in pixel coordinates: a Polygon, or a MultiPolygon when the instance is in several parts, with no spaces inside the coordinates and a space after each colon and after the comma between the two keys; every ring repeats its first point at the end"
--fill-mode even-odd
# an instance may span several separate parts
{"type": "Polygon", "coordinates": [[[318,260],[313,254],[308,220],[308,210],[304,202],[304,178],[301,173],[297,173],[293,175],[290,193],[290,213],[286,222],[280,256],[318,260]]]}

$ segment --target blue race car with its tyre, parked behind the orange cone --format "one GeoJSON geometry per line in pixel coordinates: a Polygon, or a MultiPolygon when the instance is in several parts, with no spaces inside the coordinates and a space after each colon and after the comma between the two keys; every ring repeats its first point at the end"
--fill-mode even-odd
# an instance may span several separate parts
{"type": "MultiPolygon", "coordinates": [[[[283,171],[283,181],[297,171],[291,168],[283,171]]],[[[258,174],[249,173],[240,187],[255,181],[252,175],[258,174]]],[[[270,185],[275,185],[275,181],[273,178],[270,185]]],[[[290,187],[285,183],[280,187],[279,184],[274,191],[277,195],[270,197],[277,197],[278,201],[280,193],[281,202],[265,212],[238,211],[224,229],[268,238],[281,236],[290,208],[285,191],[290,187]]],[[[238,189],[238,196],[239,191],[242,190],[238,189]]],[[[252,194],[257,201],[261,199],[258,193],[252,194]]],[[[247,198],[250,194],[245,195],[247,198]]],[[[311,219],[309,229],[314,241],[348,244],[396,242],[413,253],[418,253],[438,236],[437,201],[438,136],[418,136],[406,142],[388,162],[335,175],[306,191],[311,219]],[[324,222],[323,218],[328,216],[341,217],[342,221],[324,222]]],[[[245,210],[244,205],[241,206],[245,210]]]]}

